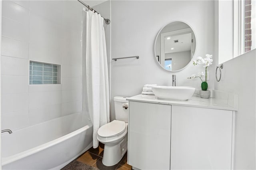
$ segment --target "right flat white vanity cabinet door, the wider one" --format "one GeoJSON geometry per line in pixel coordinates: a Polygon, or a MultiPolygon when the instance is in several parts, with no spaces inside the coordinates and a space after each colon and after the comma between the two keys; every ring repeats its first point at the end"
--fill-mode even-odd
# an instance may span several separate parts
{"type": "Polygon", "coordinates": [[[172,106],[171,169],[231,169],[232,111],[172,106]]]}

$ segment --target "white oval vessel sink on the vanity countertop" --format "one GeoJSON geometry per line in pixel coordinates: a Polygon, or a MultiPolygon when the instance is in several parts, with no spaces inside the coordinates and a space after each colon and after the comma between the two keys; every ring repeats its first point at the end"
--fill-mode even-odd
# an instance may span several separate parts
{"type": "Polygon", "coordinates": [[[152,91],[156,97],[168,100],[188,100],[192,97],[195,88],[183,86],[155,86],[152,91]]]}

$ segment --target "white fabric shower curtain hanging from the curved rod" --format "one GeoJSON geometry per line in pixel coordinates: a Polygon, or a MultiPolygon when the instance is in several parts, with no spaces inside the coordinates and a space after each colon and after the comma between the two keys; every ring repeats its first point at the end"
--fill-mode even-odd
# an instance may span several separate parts
{"type": "Polygon", "coordinates": [[[110,121],[106,39],[100,14],[88,10],[85,13],[87,109],[93,124],[93,148],[97,148],[98,129],[110,121]]]}

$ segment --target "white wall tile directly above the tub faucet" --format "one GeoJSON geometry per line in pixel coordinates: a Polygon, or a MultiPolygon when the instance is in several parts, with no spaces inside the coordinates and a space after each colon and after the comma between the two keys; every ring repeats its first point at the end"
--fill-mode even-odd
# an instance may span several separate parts
{"type": "Polygon", "coordinates": [[[12,131],[28,127],[28,110],[2,114],[2,129],[12,131]]]}

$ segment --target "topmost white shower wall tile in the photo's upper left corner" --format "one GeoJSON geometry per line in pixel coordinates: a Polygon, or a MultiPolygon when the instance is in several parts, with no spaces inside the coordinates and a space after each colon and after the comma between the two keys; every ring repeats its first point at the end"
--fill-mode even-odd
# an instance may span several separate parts
{"type": "Polygon", "coordinates": [[[2,16],[28,26],[29,10],[10,0],[2,1],[2,16]]]}

